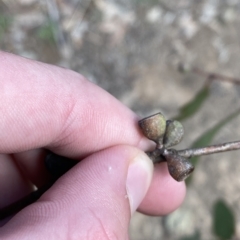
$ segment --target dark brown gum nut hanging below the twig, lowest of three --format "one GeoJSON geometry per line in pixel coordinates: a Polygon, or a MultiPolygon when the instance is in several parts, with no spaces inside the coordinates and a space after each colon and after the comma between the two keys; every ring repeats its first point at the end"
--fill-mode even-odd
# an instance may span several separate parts
{"type": "Polygon", "coordinates": [[[192,163],[178,155],[176,150],[167,150],[164,157],[170,175],[178,182],[185,180],[194,170],[192,163]]]}

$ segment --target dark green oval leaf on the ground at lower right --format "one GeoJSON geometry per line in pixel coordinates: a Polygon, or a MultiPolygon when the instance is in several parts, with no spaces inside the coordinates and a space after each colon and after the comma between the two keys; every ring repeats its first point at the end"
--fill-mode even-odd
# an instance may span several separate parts
{"type": "Polygon", "coordinates": [[[222,240],[231,239],[235,232],[233,211],[220,199],[213,206],[213,232],[222,240]]]}

